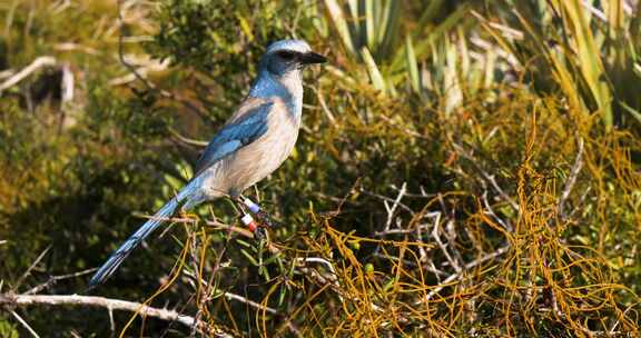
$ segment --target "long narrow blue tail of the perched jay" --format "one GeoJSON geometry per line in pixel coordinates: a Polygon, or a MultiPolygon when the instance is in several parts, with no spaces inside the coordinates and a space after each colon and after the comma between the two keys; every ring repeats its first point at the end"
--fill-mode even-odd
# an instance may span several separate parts
{"type": "Polygon", "coordinates": [[[162,208],[160,208],[160,210],[158,210],[158,212],[156,212],[156,215],[154,215],[154,218],[145,222],[138,229],[138,231],[136,231],[136,233],[131,235],[125,241],[125,243],[122,243],[120,248],[118,248],[118,250],[111,254],[109,259],[107,259],[107,261],[100,267],[100,269],[98,269],[98,272],[96,272],[96,275],[91,277],[91,280],[89,281],[89,288],[96,287],[97,285],[105,281],[107,278],[109,278],[109,276],[111,276],[114,271],[118,269],[120,264],[122,264],[125,258],[127,258],[127,256],[129,256],[129,254],[134,249],[136,249],[136,247],[138,247],[138,245],[145,238],[147,238],[147,236],[149,236],[151,232],[154,232],[154,230],[156,230],[160,225],[162,225],[164,220],[160,220],[159,218],[171,217],[176,208],[178,208],[180,197],[181,196],[175,197],[169,202],[167,202],[162,208]]]}

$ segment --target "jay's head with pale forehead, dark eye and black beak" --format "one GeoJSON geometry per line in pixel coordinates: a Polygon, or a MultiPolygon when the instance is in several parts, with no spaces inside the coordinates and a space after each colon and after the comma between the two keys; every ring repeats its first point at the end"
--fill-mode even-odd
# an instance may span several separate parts
{"type": "Polygon", "coordinates": [[[282,77],[298,71],[307,64],[323,63],[327,59],[312,51],[303,40],[280,40],[267,48],[260,60],[260,67],[270,73],[282,77]]]}

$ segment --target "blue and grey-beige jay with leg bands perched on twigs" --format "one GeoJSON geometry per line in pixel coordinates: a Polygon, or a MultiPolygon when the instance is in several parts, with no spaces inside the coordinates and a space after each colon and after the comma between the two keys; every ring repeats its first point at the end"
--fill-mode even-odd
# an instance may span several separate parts
{"type": "MultiPolygon", "coordinates": [[[[221,197],[236,202],[245,189],[278,169],[298,138],[303,69],[326,61],[304,40],[269,44],[249,92],[200,155],[191,180],[111,254],[89,281],[89,288],[114,275],[127,256],[176,210],[187,211],[221,197]]],[[[258,208],[252,205],[248,206],[256,211],[258,208]]]]}

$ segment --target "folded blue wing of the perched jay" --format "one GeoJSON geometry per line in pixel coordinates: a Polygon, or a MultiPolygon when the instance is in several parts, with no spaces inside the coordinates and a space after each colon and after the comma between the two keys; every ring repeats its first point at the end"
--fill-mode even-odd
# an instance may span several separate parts
{"type": "Polygon", "coordinates": [[[274,106],[273,102],[263,103],[248,110],[233,123],[223,127],[198,159],[194,177],[267,132],[267,116],[272,111],[272,106],[274,106]]]}

